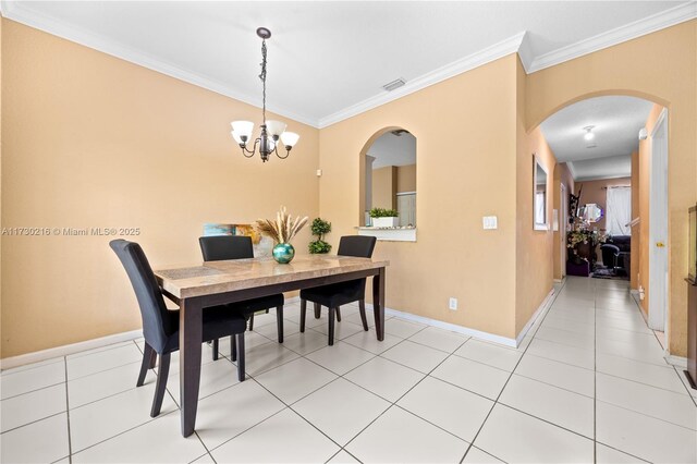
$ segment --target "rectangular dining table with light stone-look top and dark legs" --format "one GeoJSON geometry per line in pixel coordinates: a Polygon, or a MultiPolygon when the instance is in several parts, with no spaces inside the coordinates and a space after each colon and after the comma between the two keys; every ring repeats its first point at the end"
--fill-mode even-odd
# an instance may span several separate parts
{"type": "MultiPolygon", "coordinates": [[[[372,278],[375,331],[384,339],[384,278],[389,261],[351,256],[298,255],[289,264],[271,257],[206,261],[155,270],[162,293],[180,307],[180,407],[182,435],[196,426],[200,383],[201,325],[207,307],[372,278]]],[[[282,327],[280,327],[282,333],[282,327]]],[[[282,340],[282,339],[281,339],[282,340]]]]}

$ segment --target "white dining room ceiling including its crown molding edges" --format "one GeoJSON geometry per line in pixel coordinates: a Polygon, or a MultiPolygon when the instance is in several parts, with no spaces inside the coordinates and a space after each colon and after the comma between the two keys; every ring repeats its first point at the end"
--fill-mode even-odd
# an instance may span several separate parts
{"type": "Polygon", "coordinates": [[[685,1],[2,1],[2,14],[260,105],[258,26],[269,27],[268,107],[327,126],[501,56],[528,72],[697,15],[685,1]],[[381,86],[407,85],[391,94],[381,86]]]}

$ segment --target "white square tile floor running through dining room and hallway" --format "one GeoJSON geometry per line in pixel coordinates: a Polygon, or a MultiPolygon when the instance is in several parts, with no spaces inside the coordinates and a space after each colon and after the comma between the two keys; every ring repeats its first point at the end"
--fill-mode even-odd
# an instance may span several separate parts
{"type": "MultiPolygon", "coordinates": [[[[558,289],[559,290],[559,289],[558,289]]],[[[197,431],[180,435],[178,357],[161,415],[143,341],[3,371],[1,461],[697,461],[697,394],[663,361],[625,282],[570,278],[517,350],[389,318],[386,340],[342,308],[298,333],[286,306],[247,332],[247,379],[205,345],[197,431]]],[[[369,318],[370,319],[370,318],[369,318]]]]}

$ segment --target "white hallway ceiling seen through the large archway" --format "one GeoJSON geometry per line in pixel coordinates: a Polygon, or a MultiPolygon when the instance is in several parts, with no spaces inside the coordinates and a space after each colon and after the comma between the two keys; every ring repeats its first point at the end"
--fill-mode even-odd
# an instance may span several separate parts
{"type": "Polygon", "coordinates": [[[542,122],[541,130],[559,162],[567,162],[576,180],[632,174],[632,152],[653,103],[640,98],[608,96],[571,105],[542,122]],[[584,138],[592,125],[595,137],[584,138]]]}

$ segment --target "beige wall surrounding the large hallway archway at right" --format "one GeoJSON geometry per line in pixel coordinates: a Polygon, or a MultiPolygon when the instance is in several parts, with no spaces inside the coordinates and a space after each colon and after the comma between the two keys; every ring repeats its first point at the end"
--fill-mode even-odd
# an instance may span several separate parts
{"type": "MultiPolygon", "coordinates": [[[[633,95],[669,109],[670,352],[687,347],[687,215],[697,198],[697,20],[527,76],[527,127],[600,95],[633,95]]],[[[641,218],[644,222],[644,218],[641,218]]]]}

